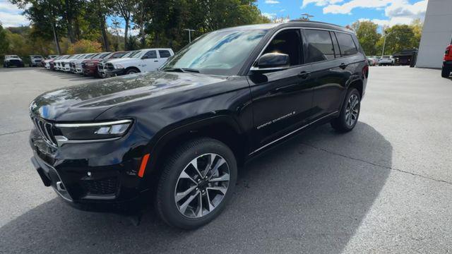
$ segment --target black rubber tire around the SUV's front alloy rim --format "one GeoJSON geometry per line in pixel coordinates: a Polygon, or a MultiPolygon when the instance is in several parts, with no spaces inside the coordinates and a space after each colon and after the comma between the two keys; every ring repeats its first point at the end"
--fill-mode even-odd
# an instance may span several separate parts
{"type": "Polygon", "coordinates": [[[157,185],[155,208],[164,222],[179,229],[196,229],[218,217],[230,200],[237,180],[237,162],[233,152],[227,145],[212,138],[197,138],[184,143],[167,157],[162,170],[157,185]],[[211,212],[197,218],[186,217],[179,212],[174,197],[179,176],[193,159],[208,153],[215,153],[225,159],[230,174],[227,191],[211,212]]]}

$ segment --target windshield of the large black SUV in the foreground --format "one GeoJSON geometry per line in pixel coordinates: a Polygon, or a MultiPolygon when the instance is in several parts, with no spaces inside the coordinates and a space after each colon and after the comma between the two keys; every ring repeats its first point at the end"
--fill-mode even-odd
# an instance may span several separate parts
{"type": "Polygon", "coordinates": [[[214,75],[237,75],[266,30],[211,32],[187,45],[162,67],[196,69],[214,75]]]}

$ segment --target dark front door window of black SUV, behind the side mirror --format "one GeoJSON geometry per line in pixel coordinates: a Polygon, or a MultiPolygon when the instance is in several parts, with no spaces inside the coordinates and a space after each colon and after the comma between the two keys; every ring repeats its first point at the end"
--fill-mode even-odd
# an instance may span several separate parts
{"type": "Polygon", "coordinates": [[[273,37],[262,54],[274,52],[288,54],[290,66],[297,66],[302,63],[301,45],[299,30],[284,30],[273,37]]]}

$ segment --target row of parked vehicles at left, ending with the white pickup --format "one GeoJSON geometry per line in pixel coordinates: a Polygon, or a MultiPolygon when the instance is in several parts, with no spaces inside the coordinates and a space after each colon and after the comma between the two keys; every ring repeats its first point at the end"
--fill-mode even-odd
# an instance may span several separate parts
{"type": "Polygon", "coordinates": [[[145,71],[155,71],[170,56],[172,49],[139,49],[131,52],[102,52],[54,56],[42,61],[52,71],[64,71],[106,78],[145,71]]]}

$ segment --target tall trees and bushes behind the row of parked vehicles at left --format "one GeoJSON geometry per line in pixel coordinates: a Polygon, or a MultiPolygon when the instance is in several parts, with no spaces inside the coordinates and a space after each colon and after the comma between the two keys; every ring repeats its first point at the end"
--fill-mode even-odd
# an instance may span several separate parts
{"type": "Polygon", "coordinates": [[[171,47],[206,32],[268,23],[256,0],[10,0],[30,27],[0,28],[0,55],[171,47]],[[131,30],[138,31],[131,34],[131,30]],[[136,34],[138,33],[138,34],[136,34]]]}

